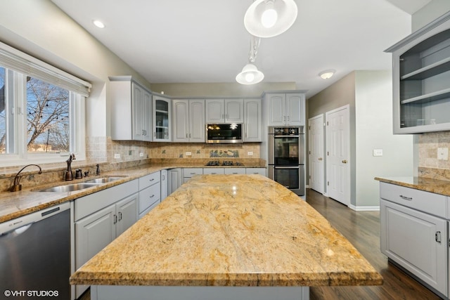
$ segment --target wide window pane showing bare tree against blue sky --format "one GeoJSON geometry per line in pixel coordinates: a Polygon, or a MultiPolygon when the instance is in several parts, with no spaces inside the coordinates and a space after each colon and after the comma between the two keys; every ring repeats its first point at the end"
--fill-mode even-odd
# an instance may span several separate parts
{"type": "Polygon", "coordinates": [[[69,91],[32,77],[27,77],[27,148],[69,151],[69,91]]]}

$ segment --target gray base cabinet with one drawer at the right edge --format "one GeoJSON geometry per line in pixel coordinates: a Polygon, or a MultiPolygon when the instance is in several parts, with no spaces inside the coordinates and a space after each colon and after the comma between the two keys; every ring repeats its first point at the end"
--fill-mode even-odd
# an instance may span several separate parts
{"type": "Polygon", "coordinates": [[[381,252],[448,296],[446,197],[380,183],[381,252]]]}

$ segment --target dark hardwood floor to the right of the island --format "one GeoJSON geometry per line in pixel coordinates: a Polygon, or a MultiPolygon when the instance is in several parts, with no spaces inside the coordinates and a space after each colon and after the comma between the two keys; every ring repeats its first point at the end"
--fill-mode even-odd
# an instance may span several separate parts
{"type": "Polygon", "coordinates": [[[380,212],[354,211],[307,189],[307,202],[319,211],[383,276],[381,286],[311,287],[310,299],[440,299],[419,282],[387,262],[380,252],[380,212]]]}

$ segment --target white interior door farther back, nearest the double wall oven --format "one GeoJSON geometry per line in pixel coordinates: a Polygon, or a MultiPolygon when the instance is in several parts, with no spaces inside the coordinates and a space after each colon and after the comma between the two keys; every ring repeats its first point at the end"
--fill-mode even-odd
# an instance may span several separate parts
{"type": "Polygon", "coordinates": [[[308,120],[309,188],[323,194],[325,171],[323,160],[323,115],[308,120]]]}

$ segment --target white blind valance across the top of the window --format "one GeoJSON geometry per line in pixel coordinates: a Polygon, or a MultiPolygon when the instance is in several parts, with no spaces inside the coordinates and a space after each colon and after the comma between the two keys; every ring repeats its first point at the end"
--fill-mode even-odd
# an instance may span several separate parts
{"type": "Polygon", "coordinates": [[[41,79],[69,91],[89,96],[91,84],[48,63],[18,51],[11,46],[0,43],[0,65],[27,76],[41,79]]]}

